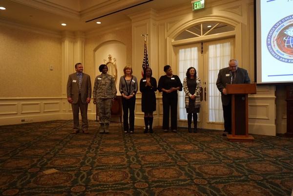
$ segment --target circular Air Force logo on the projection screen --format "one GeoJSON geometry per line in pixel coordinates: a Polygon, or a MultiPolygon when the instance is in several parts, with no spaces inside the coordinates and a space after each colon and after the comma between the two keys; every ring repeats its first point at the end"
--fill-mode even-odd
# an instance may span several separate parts
{"type": "Polygon", "coordinates": [[[270,54],[284,63],[293,63],[293,15],[275,23],[267,37],[270,54]]]}

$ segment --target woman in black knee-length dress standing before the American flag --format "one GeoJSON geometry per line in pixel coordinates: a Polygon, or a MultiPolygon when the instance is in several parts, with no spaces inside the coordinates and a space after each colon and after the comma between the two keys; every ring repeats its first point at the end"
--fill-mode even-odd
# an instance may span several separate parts
{"type": "Polygon", "coordinates": [[[156,110],[156,94],[157,81],[152,76],[152,70],[150,67],[146,67],[144,77],[140,80],[139,89],[142,92],[142,111],[145,112],[145,126],[144,133],[149,130],[153,133],[152,122],[153,122],[153,111],[156,110]],[[148,128],[149,125],[149,128],[148,128]]]}

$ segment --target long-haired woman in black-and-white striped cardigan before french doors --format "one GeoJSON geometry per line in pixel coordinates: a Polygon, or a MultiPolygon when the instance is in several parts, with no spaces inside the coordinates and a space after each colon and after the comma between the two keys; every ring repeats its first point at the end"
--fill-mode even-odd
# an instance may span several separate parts
{"type": "Polygon", "coordinates": [[[194,130],[197,132],[197,113],[200,109],[200,78],[196,75],[194,67],[189,67],[186,72],[186,78],[183,81],[183,89],[185,91],[185,108],[188,120],[188,132],[191,131],[191,121],[193,116],[194,130]]]}

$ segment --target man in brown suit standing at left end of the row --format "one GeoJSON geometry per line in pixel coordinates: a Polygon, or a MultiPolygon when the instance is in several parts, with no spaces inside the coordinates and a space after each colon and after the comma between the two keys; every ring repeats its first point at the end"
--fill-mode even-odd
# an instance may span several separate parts
{"type": "Polygon", "coordinates": [[[91,83],[89,75],[83,73],[81,63],[75,65],[76,73],[70,74],[67,81],[67,101],[71,104],[73,113],[72,134],[79,133],[79,110],[82,115],[82,131],[88,133],[87,106],[91,98],[91,83]]]}

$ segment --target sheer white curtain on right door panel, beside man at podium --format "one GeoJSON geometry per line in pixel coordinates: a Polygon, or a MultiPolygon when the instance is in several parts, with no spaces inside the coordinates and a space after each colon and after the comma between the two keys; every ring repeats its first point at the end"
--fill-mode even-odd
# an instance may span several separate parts
{"type": "Polygon", "coordinates": [[[224,122],[221,93],[216,86],[219,70],[231,59],[231,43],[209,45],[209,122],[224,122]]]}

